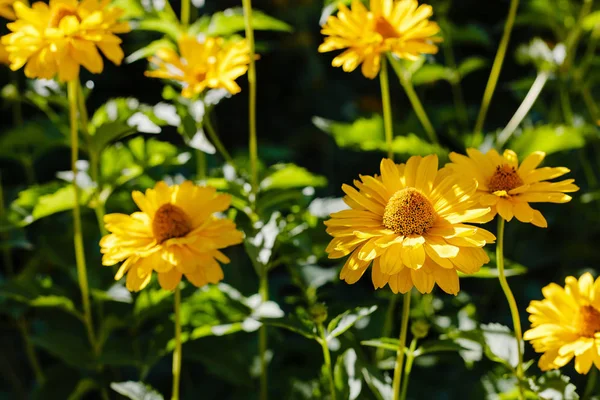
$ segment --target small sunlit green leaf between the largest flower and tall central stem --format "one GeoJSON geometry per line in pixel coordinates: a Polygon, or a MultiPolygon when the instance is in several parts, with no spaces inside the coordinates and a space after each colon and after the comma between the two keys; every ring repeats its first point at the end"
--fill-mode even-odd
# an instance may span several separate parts
{"type": "Polygon", "coordinates": [[[270,169],[271,173],[260,183],[260,188],[264,191],[327,186],[327,178],[312,174],[295,164],[276,164],[270,169]]]}

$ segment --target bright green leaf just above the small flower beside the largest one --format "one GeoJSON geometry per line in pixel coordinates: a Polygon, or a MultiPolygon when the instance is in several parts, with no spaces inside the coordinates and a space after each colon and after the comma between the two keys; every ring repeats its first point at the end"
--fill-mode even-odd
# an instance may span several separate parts
{"type": "Polygon", "coordinates": [[[585,145],[585,137],[595,132],[590,126],[539,125],[525,128],[511,141],[510,148],[525,157],[534,151],[546,154],[578,149],[585,145]]]}

